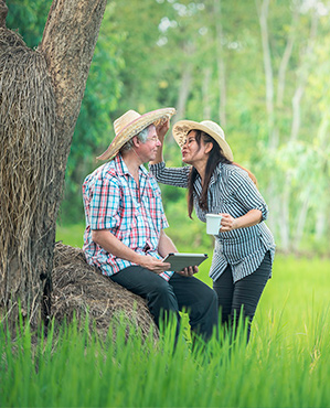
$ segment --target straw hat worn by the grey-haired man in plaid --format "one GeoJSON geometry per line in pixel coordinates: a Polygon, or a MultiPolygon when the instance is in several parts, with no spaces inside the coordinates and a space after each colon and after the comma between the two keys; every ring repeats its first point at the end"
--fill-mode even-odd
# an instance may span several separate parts
{"type": "Polygon", "coordinates": [[[175,114],[174,108],[163,108],[140,115],[135,110],[128,110],[114,121],[115,139],[107,150],[97,157],[99,160],[111,160],[118,154],[123,146],[134,136],[146,129],[149,125],[159,126],[164,124],[175,114]]]}

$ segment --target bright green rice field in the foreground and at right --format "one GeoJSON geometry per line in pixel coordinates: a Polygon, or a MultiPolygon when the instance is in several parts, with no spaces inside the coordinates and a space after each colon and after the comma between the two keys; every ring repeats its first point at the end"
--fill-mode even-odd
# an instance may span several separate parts
{"type": "Polygon", "coordinates": [[[0,330],[0,407],[330,407],[329,273],[327,259],[277,256],[247,346],[182,335],[173,352],[171,331],[104,342],[73,323],[34,347],[0,330]]]}

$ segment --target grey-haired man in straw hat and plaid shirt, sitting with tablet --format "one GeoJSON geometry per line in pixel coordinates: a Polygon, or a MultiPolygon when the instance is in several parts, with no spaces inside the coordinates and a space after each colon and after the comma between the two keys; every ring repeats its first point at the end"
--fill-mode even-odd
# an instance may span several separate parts
{"type": "Polygon", "coordinates": [[[217,324],[215,292],[192,277],[198,268],[168,271],[162,262],[177,253],[163,232],[168,222],[160,189],[143,163],[156,159],[159,132],[169,128],[173,108],[145,115],[127,111],[114,122],[116,137],[99,157],[109,160],[83,184],[87,262],[131,292],[147,299],[155,322],[179,311],[190,314],[192,331],[207,340],[217,324]]]}

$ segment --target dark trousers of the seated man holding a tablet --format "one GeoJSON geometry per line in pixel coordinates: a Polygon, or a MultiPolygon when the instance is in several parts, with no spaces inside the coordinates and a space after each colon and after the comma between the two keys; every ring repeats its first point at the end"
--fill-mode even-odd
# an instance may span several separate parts
{"type": "Polygon", "coordinates": [[[189,313],[191,330],[209,340],[217,326],[217,298],[214,290],[194,277],[174,273],[169,281],[139,266],[131,266],[110,277],[131,292],[147,300],[156,324],[169,312],[177,316],[179,311],[189,313]]]}

